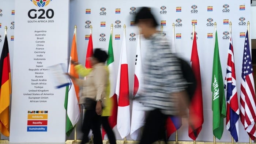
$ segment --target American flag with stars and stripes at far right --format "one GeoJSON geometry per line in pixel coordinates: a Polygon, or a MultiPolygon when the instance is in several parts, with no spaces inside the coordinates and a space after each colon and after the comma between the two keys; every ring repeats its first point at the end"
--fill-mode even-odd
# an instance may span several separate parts
{"type": "Polygon", "coordinates": [[[252,140],[255,139],[255,89],[252,71],[252,58],[250,53],[248,31],[244,43],[244,54],[242,63],[242,80],[240,93],[240,118],[246,132],[252,140]]]}

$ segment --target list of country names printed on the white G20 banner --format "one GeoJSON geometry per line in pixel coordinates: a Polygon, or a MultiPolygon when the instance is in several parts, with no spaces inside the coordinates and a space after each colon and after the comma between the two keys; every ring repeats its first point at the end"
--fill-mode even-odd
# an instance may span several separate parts
{"type": "Polygon", "coordinates": [[[34,67],[28,68],[29,73],[31,74],[31,79],[29,83],[31,88],[28,89],[24,96],[27,96],[27,99],[31,103],[46,103],[50,96],[53,96],[53,92],[49,91],[46,87],[47,79],[45,78],[45,73],[49,69],[44,67],[46,61],[46,42],[45,37],[47,35],[46,30],[35,30],[35,48],[32,51],[33,56],[32,62],[34,62],[34,67]]]}

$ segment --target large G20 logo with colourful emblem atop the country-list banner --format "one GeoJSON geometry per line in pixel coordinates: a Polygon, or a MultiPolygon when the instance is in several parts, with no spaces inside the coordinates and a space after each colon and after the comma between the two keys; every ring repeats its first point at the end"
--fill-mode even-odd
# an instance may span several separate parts
{"type": "MultiPolygon", "coordinates": [[[[52,0],[30,0],[31,2],[33,2],[34,5],[36,5],[37,7],[45,7],[46,5],[48,5],[50,3],[50,1],[52,0]]],[[[30,19],[51,19],[54,16],[54,11],[52,9],[48,9],[48,10],[44,10],[44,9],[39,9],[39,10],[35,10],[35,9],[31,9],[29,10],[29,12],[27,13],[27,15],[29,16],[30,19]],[[37,15],[39,15],[37,17],[37,15]]]]}

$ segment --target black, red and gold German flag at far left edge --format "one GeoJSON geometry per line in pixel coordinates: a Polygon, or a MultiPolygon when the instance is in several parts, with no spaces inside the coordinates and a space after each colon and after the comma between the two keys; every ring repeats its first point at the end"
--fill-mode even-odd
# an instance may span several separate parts
{"type": "Polygon", "coordinates": [[[7,36],[0,58],[0,131],[4,136],[10,135],[9,105],[11,94],[11,69],[7,36]]]}

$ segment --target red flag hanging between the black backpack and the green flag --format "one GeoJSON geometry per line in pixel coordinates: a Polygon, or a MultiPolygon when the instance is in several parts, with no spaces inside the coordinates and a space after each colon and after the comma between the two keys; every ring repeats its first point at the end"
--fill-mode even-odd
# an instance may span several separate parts
{"type": "Polygon", "coordinates": [[[196,32],[193,38],[190,61],[191,61],[192,71],[194,72],[196,77],[197,85],[196,85],[195,93],[193,95],[193,98],[189,106],[188,136],[192,140],[196,140],[198,134],[202,130],[202,125],[204,122],[203,96],[202,96],[202,85],[201,85],[201,75],[200,75],[200,64],[199,64],[199,57],[197,53],[197,44],[196,44],[196,32]]]}

